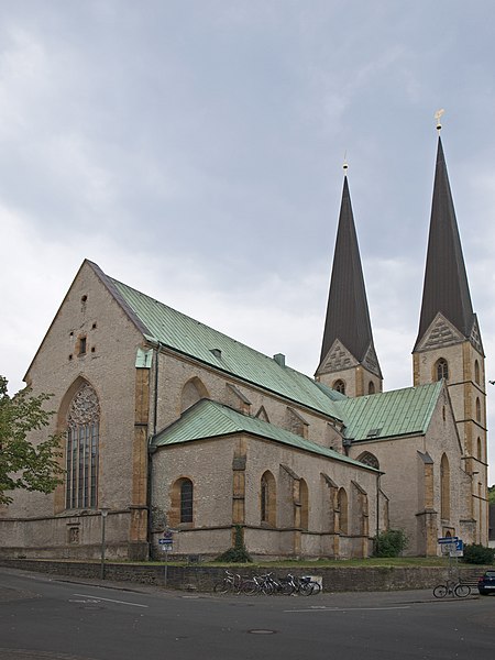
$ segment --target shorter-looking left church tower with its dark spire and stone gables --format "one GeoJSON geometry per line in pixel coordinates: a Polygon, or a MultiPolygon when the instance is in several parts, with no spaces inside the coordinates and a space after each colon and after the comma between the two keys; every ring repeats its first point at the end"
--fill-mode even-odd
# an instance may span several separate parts
{"type": "Polygon", "coordinates": [[[317,381],[345,394],[382,392],[348,178],[344,177],[317,381]]]}

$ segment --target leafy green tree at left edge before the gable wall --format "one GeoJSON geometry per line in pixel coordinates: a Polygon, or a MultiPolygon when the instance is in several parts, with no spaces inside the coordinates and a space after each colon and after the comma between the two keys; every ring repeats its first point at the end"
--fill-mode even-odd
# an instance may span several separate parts
{"type": "Polygon", "coordinates": [[[33,396],[26,387],[10,397],[7,385],[0,376],[0,504],[12,502],[7,493],[16,488],[52,493],[64,473],[58,464],[61,436],[47,436],[36,444],[26,438],[50,425],[54,411],[45,410],[44,404],[51,395],[33,396]]]}

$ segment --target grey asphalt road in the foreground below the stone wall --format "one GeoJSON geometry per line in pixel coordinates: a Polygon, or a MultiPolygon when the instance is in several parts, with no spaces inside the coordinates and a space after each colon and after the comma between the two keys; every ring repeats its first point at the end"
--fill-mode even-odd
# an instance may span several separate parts
{"type": "Polygon", "coordinates": [[[0,568],[0,660],[494,660],[495,595],[221,596],[0,568]]]}

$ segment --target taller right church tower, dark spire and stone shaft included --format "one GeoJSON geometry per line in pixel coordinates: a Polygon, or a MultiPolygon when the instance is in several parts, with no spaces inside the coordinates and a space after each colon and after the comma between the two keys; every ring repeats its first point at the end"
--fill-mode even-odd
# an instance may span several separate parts
{"type": "MultiPolygon", "coordinates": [[[[438,127],[440,129],[440,125],[438,127]]],[[[465,512],[487,544],[485,356],[473,312],[461,240],[439,135],[414,384],[444,378],[472,480],[465,512]]]]}

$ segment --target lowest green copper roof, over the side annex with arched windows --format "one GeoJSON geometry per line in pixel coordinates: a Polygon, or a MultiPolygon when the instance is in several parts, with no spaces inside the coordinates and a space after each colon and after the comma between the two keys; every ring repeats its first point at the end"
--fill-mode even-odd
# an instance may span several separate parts
{"type": "MultiPolygon", "coordinates": [[[[328,459],[350,463],[359,468],[367,468],[343,454],[338,453],[300,436],[286,431],[262,419],[242,415],[217,402],[201,399],[168,428],[157,433],[152,440],[154,447],[180,444],[193,440],[219,438],[233,433],[250,433],[266,440],[282,442],[295,449],[317,453],[328,459]]],[[[370,470],[372,470],[370,468],[370,470]]]]}

